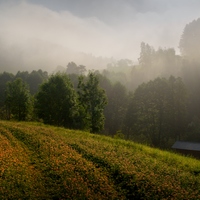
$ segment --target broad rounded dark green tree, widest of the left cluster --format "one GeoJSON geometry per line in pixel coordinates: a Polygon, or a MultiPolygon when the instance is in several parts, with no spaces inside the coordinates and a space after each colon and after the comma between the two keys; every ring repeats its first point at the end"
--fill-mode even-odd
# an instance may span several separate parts
{"type": "Polygon", "coordinates": [[[40,86],[35,110],[44,123],[76,128],[77,95],[66,74],[52,75],[40,86]]]}

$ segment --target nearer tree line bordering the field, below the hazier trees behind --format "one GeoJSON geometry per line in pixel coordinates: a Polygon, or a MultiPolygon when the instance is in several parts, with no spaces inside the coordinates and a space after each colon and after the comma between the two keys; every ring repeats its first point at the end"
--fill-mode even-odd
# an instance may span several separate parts
{"type": "Polygon", "coordinates": [[[0,74],[2,119],[39,120],[110,136],[121,133],[158,147],[185,136],[187,89],[181,78],[156,78],[128,93],[123,84],[113,84],[98,71],[48,75],[38,70],[30,82],[35,86],[27,81],[32,73],[0,74]]]}

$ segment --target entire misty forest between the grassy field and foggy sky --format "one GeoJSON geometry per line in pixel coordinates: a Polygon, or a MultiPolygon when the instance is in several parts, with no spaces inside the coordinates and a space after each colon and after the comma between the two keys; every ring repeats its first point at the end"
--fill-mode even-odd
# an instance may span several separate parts
{"type": "Polygon", "coordinates": [[[53,74],[0,74],[0,119],[42,121],[170,148],[200,142],[200,19],[187,24],[173,48],[141,43],[139,63],[87,71],[75,62],[53,74]]]}

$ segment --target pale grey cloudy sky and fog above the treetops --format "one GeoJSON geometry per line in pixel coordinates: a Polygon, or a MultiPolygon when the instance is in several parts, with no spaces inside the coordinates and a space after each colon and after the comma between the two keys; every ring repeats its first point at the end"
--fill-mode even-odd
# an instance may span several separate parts
{"type": "Polygon", "coordinates": [[[84,64],[77,52],[137,61],[141,42],[179,54],[199,8],[199,0],[0,0],[0,68],[84,64]]]}

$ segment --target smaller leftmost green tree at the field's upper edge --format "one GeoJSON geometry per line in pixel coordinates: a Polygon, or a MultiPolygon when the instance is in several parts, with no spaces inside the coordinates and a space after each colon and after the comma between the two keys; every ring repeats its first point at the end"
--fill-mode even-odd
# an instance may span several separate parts
{"type": "Polygon", "coordinates": [[[28,86],[21,78],[7,83],[5,104],[8,119],[13,115],[19,121],[26,120],[31,100],[28,86]]]}

